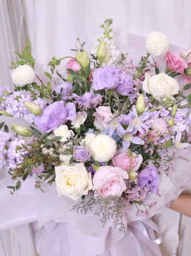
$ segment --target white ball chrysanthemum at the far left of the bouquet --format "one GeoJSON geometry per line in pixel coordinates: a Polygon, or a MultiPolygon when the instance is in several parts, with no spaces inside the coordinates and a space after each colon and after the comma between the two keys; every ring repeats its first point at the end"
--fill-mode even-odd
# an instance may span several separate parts
{"type": "Polygon", "coordinates": [[[11,74],[12,82],[16,86],[23,86],[33,83],[34,77],[34,69],[27,64],[18,66],[11,74]]]}

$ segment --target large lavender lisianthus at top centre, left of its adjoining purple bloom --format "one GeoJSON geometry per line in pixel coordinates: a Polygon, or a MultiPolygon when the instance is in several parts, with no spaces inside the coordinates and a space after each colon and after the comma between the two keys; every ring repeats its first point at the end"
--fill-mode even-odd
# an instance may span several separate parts
{"type": "Polygon", "coordinates": [[[103,66],[94,72],[93,88],[95,90],[113,89],[120,83],[120,68],[114,66],[103,66]]]}

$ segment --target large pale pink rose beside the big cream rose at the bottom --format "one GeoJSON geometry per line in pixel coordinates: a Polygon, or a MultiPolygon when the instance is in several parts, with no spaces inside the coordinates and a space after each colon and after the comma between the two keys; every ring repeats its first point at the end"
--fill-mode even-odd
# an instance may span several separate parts
{"type": "Polygon", "coordinates": [[[101,166],[94,174],[93,190],[100,192],[103,197],[121,196],[126,190],[124,179],[128,178],[128,173],[119,167],[101,166]]]}

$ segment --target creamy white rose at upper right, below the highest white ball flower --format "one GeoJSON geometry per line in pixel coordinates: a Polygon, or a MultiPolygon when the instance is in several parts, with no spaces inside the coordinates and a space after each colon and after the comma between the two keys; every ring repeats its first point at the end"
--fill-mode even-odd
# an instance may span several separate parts
{"type": "Polygon", "coordinates": [[[152,77],[146,73],[143,89],[157,101],[161,101],[161,96],[163,95],[169,96],[170,100],[174,101],[173,95],[179,92],[180,86],[174,78],[169,77],[165,73],[159,73],[152,77]]]}

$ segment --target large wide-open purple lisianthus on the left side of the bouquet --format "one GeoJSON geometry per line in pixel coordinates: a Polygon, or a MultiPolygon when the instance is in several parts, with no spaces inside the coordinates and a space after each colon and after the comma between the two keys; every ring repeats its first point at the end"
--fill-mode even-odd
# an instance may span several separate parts
{"type": "Polygon", "coordinates": [[[46,132],[50,132],[59,125],[63,125],[67,120],[75,120],[76,106],[74,103],[65,101],[56,101],[45,108],[42,115],[36,121],[37,127],[46,132]]]}

